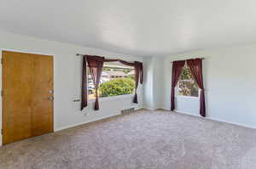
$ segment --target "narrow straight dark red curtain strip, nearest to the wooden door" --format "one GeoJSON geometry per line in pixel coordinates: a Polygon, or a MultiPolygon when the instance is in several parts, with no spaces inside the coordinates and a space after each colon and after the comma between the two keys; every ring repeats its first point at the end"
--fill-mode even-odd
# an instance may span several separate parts
{"type": "Polygon", "coordinates": [[[82,65],[82,93],[81,93],[81,110],[87,106],[87,73],[86,73],[86,56],[83,56],[82,65]]]}

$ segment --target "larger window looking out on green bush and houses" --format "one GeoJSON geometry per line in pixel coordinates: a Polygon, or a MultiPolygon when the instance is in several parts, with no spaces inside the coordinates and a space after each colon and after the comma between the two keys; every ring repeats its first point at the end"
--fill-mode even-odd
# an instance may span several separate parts
{"type": "MultiPolygon", "coordinates": [[[[87,67],[88,99],[95,99],[95,87],[87,67]]],[[[111,97],[134,93],[135,71],[134,67],[122,65],[118,62],[104,63],[100,85],[99,97],[111,97]]]]}

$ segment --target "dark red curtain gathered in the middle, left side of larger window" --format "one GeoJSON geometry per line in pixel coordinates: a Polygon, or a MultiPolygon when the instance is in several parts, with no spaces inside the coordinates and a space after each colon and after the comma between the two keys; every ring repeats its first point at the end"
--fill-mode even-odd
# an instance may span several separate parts
{"type": "MultiPolygon", "coordinates": [[[[100,84],[101,76],[102,76],[102,68],[104,64],[104,57],[100,56],[87,56],[88,67],[90,68],[90,75],[92,77],[94,87],[96,90],[96,102],[95,102],[95,110],[99,110],[99,94],[98,87],[100,84]]],[[[86,85],[87,86],[87,85],[86,85]]]]}

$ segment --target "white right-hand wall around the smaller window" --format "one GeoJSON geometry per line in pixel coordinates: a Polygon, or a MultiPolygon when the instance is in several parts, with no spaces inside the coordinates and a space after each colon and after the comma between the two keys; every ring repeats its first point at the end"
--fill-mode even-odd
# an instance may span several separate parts
{"type": "MultiPolygon", "coordinates": [[[[204,57],[207,118],[256,127],[256,45],[215,48],[163,57],[162,108],[170,110],[173,60],[204,57]]],[[[199,100],[179,97],[177,111],[199,115],[199,100]]]]}

